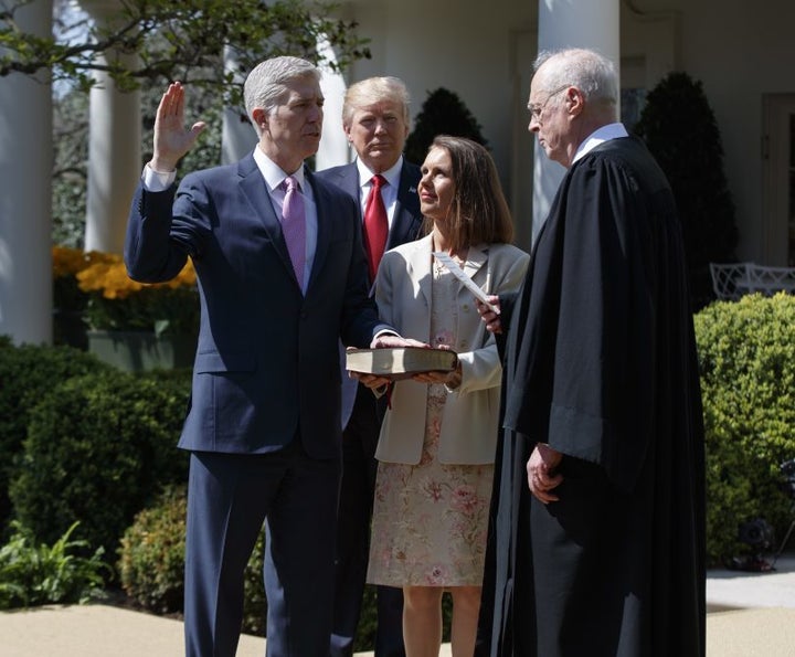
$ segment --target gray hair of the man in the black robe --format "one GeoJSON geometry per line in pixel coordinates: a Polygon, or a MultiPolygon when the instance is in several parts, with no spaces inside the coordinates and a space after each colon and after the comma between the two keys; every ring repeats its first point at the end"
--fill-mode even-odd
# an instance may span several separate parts
{"type": "Polygon", "coordinates": [[[603,54],[579,47],[541,51],[533,71],[541,65],[544,65],[548,91],[571,85],[579,88],[586,100],[618,106],[618,73],[615,64],[603,54]]]}

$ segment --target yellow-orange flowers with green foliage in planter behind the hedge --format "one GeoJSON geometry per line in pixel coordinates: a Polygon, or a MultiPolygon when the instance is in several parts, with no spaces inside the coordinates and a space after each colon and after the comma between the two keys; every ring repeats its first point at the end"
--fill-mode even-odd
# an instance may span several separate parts
{"type": "Polygon", "coordinates": [[[73,276],[85,295],[84,315],[95,330],[153,331],[157,336],[195,335],[199,295],[189,259],[177,277],[158,284],[132,280],[121,256],[75,250],[53,251],[56,279],[73,276]],[[80,255],[78,255],[80,254],[80,255]]]}

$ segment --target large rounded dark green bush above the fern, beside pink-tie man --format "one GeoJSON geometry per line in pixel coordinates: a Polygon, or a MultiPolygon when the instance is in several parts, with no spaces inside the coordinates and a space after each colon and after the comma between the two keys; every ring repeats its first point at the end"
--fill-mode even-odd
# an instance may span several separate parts
{"type": "Polygon", "coordinates": [[[113,370],[51,384],[14,467],[15,516],[45,542],[80,520],[78,537],[112,555],[135,513],[162,486],[187,480],[176,445],[189,380],[113,370]]]}

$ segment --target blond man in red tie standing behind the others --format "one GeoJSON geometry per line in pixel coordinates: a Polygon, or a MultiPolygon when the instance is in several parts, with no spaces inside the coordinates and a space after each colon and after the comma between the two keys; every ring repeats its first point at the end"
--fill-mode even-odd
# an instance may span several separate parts
{"type": "MultiPolygon", "coordinates": [[[[342,106],[342,128],[357,159],[319,171],[318,177],[356,199],[363,218],[373,191],[372,178],[381,174],[384,183],[380,191],[389,221],[385,250],[416,240],[423,221],[416,191],[421,173],[420,167],[403,159],[409,135],[405,84],[396,77],[370,77],[351,85],[342,106]]],[[[378,269],[377,259],[370,263],[371,274],[378,269]]],[[[331,657],[350,657],[353,651],[368,565],[375,445],[385,405],[354,379],[344,380],[342,390],[342,486],[331,657]]],[[[377,595],[375,657],[402,657],[403,594],[400,589],[379,586],[377,595]]]]}

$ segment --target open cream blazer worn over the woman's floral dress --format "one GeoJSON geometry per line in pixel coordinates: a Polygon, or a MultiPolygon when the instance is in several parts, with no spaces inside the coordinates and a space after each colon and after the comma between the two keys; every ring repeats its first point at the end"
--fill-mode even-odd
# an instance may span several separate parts
{"type": "MultiPolygon", "coordinates": [[[[386,252],[375,282],[381,318],[405,338],[431,342],[432,237],[386,252]]],[[[469,248],[464,272],[488,294],[519,288],[530,256],[510,244],[469,248]]],[[[457,343],[462,383],[448,391],[442,417],[438,459],[447,464],[495,460],[502,369],[494,336],[486,330],[475,299],[458,292],[457,343]]],[[[416,465],[425,436],[427,385],[398,381],[381,425],[375,458],[416,465]]]]}

